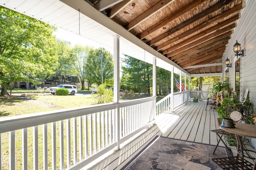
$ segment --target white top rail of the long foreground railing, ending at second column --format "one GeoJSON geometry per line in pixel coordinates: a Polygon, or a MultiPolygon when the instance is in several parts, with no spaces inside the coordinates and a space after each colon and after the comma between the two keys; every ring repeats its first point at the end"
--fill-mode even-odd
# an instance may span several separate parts
{"type": "Polygon", "coordinates": [[[89,115],[92,113],[97,113],[101,111],[107,111],[116,109],[118,107],[125,107],[136,105],[140,103],[145,103],[155,100],[156,97],[149,97],[131,101],[124,101],[117,103],[108,104],[97,104],[91,106],[74,107],[69,109],[61,109],[55,111],[46,111],[41,113],[32,113],[28,115],[19,115],[12,117],[0,118],[0,133],[14,131],[18,129],[23,129],[27,127],[33,127],[37,125],[43,125],[46,123],[52,123],[56,121],[61,121],[65,119],[70,119],[72,117],[79,117],[83,115],[89,115]]]}

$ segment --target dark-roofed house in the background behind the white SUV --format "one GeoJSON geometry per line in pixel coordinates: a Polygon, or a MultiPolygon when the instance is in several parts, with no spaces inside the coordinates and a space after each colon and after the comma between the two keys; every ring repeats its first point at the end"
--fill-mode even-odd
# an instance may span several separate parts
{"type": "Polygon", "coordinates": [[[54,87],[58,86],[59,84],[71,84],[78,87],[79,84],[79,78],[78,76],[66,76],[67,78],[58,78],[56,76],[47,77],[39,80],[41,84],[39,84],[39,87],[54,87]]]}

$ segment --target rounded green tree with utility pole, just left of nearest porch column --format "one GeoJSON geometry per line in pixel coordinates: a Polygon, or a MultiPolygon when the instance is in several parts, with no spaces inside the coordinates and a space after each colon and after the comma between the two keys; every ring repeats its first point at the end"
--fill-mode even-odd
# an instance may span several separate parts
{"type": "Polygon", "coordinates": [[[86,80],[89,84],[102,84],[101,70],[103,69],[103,83],[113,86],[114,61],[113,55],[104,48],[95,49],[89,53],[86,60],[86,80]],[[102,67],[101,67],[102,54],[102,67]],[[89,80],[90,79],[90,80],[89,80]]]}

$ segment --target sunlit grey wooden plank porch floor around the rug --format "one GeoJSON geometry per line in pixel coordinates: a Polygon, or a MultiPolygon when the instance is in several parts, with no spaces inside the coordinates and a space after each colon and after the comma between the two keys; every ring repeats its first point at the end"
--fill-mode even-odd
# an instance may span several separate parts
{"type": "MultiPolygon", "coordinates": [[[[156,135],[206,143],[217,144],[217,137],[212,129],[218,128],[218,113],[207,106],[206,102],[187,102],[173,112],[166,112],[156,117],[156,125],[139,135],[122,149],[114,152],[96,165],[88,165],[81,170],[119,170],[140,152],[156,135]]],[[[220,146],[224,146],[222,143],[220,146]]]]}

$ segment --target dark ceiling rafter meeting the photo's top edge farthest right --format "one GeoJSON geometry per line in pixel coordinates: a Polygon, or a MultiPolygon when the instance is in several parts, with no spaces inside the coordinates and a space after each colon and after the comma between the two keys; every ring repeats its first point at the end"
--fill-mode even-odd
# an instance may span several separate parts
{"type": "Polygon", "coordinates": [[[183,29],[184,27],[187,27],[188,25],[202,20],[205,16],[208,16],[209,14],[212,14],[213,12],[220,10],[221,8],[225,7],[227,4],[233,2],[234,0],[225,0],[225,1],[220,1],[217,4],[215,4],[214,6],[208,8],[207,10],[197,14],[196,16],[190,18],[189,20],[184,21],[183,23],[181,23],[180,25],[170,29],[169,31],[163,33],[162,35],[159,35],[158,37],[150,40],[147,44],[152,46],[155,43],[157,43],[158,41],[161,41],[162,39],[165,39],[166,37],[176,33],[178,30],[183,29]]]}

